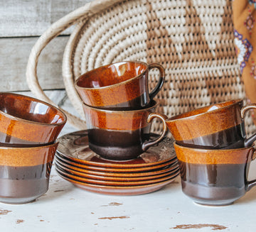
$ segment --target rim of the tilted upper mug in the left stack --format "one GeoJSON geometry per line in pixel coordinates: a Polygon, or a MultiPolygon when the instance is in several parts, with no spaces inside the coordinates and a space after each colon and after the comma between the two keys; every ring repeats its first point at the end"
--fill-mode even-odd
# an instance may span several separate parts
{"type": "Polygon", "coordinates": [[[43,105],[46,105],[50,108],[53,108],[55,109],[56,111],[59,111],[60,114],[63,115],[63,121],[61,121],[60,123],[42,123],[42,122],[38,122],[38,121],[30,121],[30,120],[27,120],[25,118],[19,118],[17,116],[14,116],[14,115],[11,115],[11,114],[7,114],[5,113],[4,111],[2,111],[0,109],[0,114],[3,114],[4,116],[6,116],[6,118],[10,118],[11,120],[14,120],[14,121],[23,121],[23,122],[26,122],[26,123],[31,123],[31,124],[37,124],[37,125],[43,125],[43,126],[61,126],[63,124],[65,124],[68,120],[67,116],[65,115],[65,113],[63,112],[63,110],[57,108],[56,106],[53,106],[52,104],[48,104],[46,101],[41,101],[40,99],[36,99],[32,96],[26,96],[26,95],[22,95],[22,94],[14,94],[14,93],[7,93],[7,92],[0,92],[0,96],[1,95],[11,95],[11,96],[21,96],[21,97],[24,97],[26,99],[28,99],[29,101],[36,101],[38,103],[41,103],[43,105]]]}

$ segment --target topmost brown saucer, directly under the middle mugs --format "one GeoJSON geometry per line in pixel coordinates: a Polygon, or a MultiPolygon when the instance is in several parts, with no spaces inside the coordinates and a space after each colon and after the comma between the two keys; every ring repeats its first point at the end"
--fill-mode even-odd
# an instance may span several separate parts
{"type": "MultiPolygon", "coordinates": [[[[126,161],[105,160],[90,150],[87,134],[87,130],[76,131],[58,138],[58,154],[65,160],[79,164],[111,168],[149,167],[160,165],[176,158],[174,140],[166,137],[136,159],[126,161]]],[[[151,133],[151,139],[157,136],[159,135],[151,133]]]]}

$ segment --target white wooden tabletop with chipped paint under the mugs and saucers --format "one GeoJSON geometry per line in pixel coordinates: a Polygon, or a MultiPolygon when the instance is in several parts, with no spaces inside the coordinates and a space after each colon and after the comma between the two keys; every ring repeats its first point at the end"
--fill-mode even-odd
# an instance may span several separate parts
{"type": "MultiPolygon", "coordinates": [[[[249,176],[256,177],[256,162],[249,176]]],[[[256,188],[230,206],[194,204],[181,192],[180,177],[150,194],[108,196],[74,187],[53,164],[42,197],[29,204],[0,203],[0,231],[256,231],[255,209],[256,188]]]]}

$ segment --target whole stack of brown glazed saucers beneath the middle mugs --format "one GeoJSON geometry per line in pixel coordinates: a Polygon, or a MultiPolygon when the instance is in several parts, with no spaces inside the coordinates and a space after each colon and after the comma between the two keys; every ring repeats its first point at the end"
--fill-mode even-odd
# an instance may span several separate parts
{"type": "Polygon", "coordinates": [[[87,131],[69,133],[58,140],[55,155],[58,175],[90,192],[146,194],[173,182],[179,174],[174,140],[170,138],[126,161],[105,160],[90,150],[87,131]]]}

